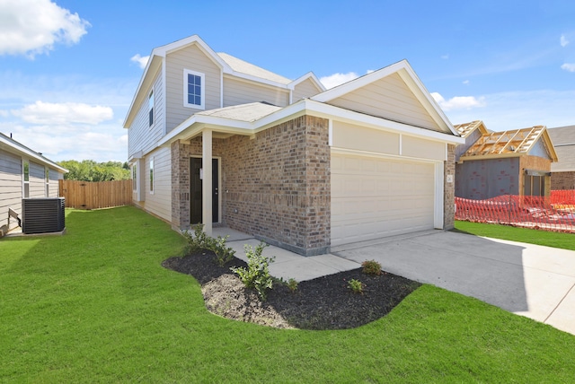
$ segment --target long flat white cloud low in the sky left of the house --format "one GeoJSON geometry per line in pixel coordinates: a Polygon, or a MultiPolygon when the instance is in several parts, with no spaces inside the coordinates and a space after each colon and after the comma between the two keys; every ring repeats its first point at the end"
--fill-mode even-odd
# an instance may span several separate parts
{"type": "Polygon", "coordinates": [[[13,116],[31,124],[99,124],[113,118],[110,107],[91,106],[83,103],[51,103],[36,101],[22,109],[13,109],[13,116]]]}

